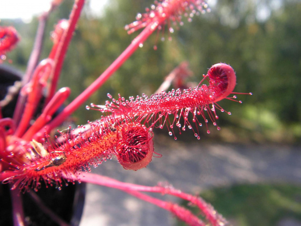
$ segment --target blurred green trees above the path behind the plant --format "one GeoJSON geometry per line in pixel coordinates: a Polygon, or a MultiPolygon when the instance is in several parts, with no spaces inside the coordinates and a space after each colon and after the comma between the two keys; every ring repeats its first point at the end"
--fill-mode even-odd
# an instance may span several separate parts
{"type": "MultiPolygon", "coordinates": [[[[58,18],[67,18],[72,0],[65,0],[48,23],[46,58],[51,41],[49,34],[58,18]]],[[[88,7],[79,21],[67,53],[59,87],[71,87],[73,100],[88,87],[139,33],[127,35],[123,26],[143,13],[152,0],[111,0],[101,17],[89,14],[88,7]]],[[[183,18],[184,26],[168,34],[153,34],[124,65],[86,103],[103,104],[109,92],[114,97],[150,95],[164,77],[187,60],[194,71],[196,84],[211,65],[230,64],[237,75],[236,92],[243,104],[222,101],[220,105],[232,116],[218,113],[218,132],[227,141],[298,142],[301,138],[301,2],[299,0],[239,1],[218,0],[212,12],[183,18]],[[165,37],[166,41],[161,41],[165,37]],[[154,51],[153,46],[158,50],[154,51]]],[[[11,24],[12,21],[1,21],[11,24]]],[[[18,48],[8,56],[13,65],[24,70],[33,46],[37,19],[24,24],[14,21],[22,36],[18,48]]],[[[177,26],[175,26],[177,27],[177,26]]],[[[218,103],[219,104],[219,103],[218,103]]],[[[85,107],[74,116],[79,124],[100,117],[98,111],[85,107]]],[[[204,130],[204,129],[203,129],[204,130]]],[[[211,128],[214,130],[214,128],[211,128]]]]}

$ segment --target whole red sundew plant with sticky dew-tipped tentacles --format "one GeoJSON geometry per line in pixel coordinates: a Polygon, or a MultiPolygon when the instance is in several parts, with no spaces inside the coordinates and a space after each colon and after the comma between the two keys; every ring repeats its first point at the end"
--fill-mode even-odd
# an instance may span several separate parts
{"type": "MultiPolygon", "coordinates": [[[[55,188],[60,192],[68,184],[72,186],[81,182],[127,192],[166,209],[187,225],[227,225],[227,221],[201,197],[171,186],[148,187],[120,182],[93,174],[90,167],[97,167],[113,157],[117,158],[125,170],[136,171],[147,167],[153,156],[160,157],[159,151],[157,153],[153,147],[154,128],[167,128],[169,135],[174,139],[177,139],[177,133],[185,130],[192,130],[196,139],[200,139],[200,129],[210,133],[208,124],[213,124],[219,130],[217,113],[231,113],[225,111],[217,102],[223,99],[236,101],[236,95],[241,94],[234,92],[236,75],[231,66],[217,62],[207,72],[204,71],[196,87],[168,91],[168,86],[162,86],[161,90],[150,97],[142,94],[124,98],[121,94],[116,97],[108,94],[109,100],[105,103],[84,106],[87,110],[99,111],[98,120],[76,129],[70,126],[63,131],[57,131],[57,127],[76,109],[83,107],[84,101],[99,89],[152,33],[166,31],[170,35],[174,28],[184,24],[185,17],[189,21],[194,15],[201,16],[210,11],[207,3],[203,0],[155,1],[145,13],[137,14],[136,21],[126,25],[125,29],[129,34],[141,29],[140,34],[99,78],[63,109],[62,104],[69,96],[70,89],[62,87],[57,90],[57,84],[84,0],[75,0],[69,18],[57,22],[55,30],[51,33],[52,50],[46,59],[39,62],[45,23],[59,4],[60,1],[53,0],[49,11],[41,15],[27,70],[22,80],[9,88],[5,98],[1,100],[0,181],[2,184],[8,184],[10,188],[14,226],[30,225],[24,213],[27,206],[23,196],[27,193],[32,194],[35,202],[45,210],[45,215],[51,216],[56,224],[72,225],[55,215],[51,209],[44,207],[34,194],[43,188],[55,188]],[[4,109],[10,104],[13,95],[18,95],[14,112],[12,115],[6,115],[4,109]],[[57,131],[54,137],[50,136],[53,131],[57,131]],[[197,206],[201,214],[197,216],[185,207],[154,198],[146,192],[187,200],[191,205],[197,206]]],[[[17,48],[19,38],[13,27],[0,27],[1,62],[6,60],[6,52],[17,48]]],[[[156,48],[155,46],[154,49],[156,48]]],[[[175,71],[183,70],[185,68],[175,71]]]]}

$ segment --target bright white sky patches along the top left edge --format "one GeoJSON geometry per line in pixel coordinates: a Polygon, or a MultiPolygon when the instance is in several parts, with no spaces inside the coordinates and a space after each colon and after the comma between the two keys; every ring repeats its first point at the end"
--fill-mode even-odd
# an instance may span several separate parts
{"type": "MultiPolygon", "coordinates": [[[[93,13],[101,12],[107,0],[90,0],[93,13]]],[[[50,7],[51,0],[0,0],[0,18],[21,18],[25,22],[50,7]]]]}

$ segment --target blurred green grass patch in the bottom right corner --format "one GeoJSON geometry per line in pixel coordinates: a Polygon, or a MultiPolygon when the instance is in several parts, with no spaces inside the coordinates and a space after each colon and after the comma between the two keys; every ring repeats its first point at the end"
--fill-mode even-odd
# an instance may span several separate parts
{"type": "MultiPolygon", "coordinates": [[[[203,191],[200,196],[234,226],[275,226],[286,225],[284,221],[300,224],[300,192],[300,187],[289,184],[241,184],[203,191]]],[[[182,204],[187,207],[187,202],[182,204]]]]}

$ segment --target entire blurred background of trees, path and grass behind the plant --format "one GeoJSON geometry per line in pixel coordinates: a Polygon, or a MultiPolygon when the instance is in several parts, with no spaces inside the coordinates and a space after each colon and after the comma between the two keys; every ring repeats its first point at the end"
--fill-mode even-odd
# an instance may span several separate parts
{"type": "MultiPolygon", "coordinates": [[[[30,2],[24,7],[38,8],[36,2],[30,2]]],[[[72,0],[63,1],[51,15],[41,59],[50,52],[53,25],[58,18],[68,17],[72,3],[72,0]]],[[[200,129],[201,140],[187,132],[176,135],[178,140],[174,141],[167,131],[156,130],[156,151],[163,157],[154,159],[150,167],[141,172],[129,172],[112,161],[96,170],[122,181],[150,186],[158,181],[168,181],[190,193],[209,189],[204,191],[203,197],[234,225],[301,225],[298,187],[301,163],[296,160],[301,159],[301,2],[209,0],[208,3],[210,13],[194,16],[192,22],[183,18],[184,26],[174,26],[173,34],[166,31],[165,34],[151,35],[143,47],[73,114],[73,119],[76,124],[84,124],[87,120],[100,118],[98,111],[87,112],[85,105],[103,104],[108,99],[107,93],[113,97],[118,93],[124,97],[142,93],[151,95],[165,76],[183,61],[189,62],[194,73],[187,82],[195,84],[213,64],[230,64],[237,76],[234,91],[252,92],[253,95],[237,95],[243,104],[229,100],[218,103],[232,112],[231,116],[218,113],[220,131],[210,126],[210,135],[205,128],[200,129]],[[231,167],[233,164],[234,168],[231,167]],[[242,185],[245,183],[249,185],[242,185]],[[260,194],[262,201],[254,203],[254,200],[261,200],[260,194]],[[250,206],[254,206],[255,213],[248,218],[245,216],[253,211],[250,206]],[[246,210],[240,212],[243,209],[246,210]],[[265,214],[259,217],[256,211],[265,214]],[[258,222],[254,223],[254,219],[258,222]]],[[[17,48],[7,54],[12,63],[6,61],[4,64],[24,71],[33,47],[37,17],[22,17],[22,13],[17,16],[22,18],[1,17],[6,4],[0,2],[0,25],[15,26],[22,39],[17,48]]],[[[69,101],[91,84],[131,43],[139,31],[128,35],[124,25],[134,21],[135,15],[143,13],[151,4],[152,0],[87,1],[59,84],[59,87],[71,88],[69,101]]],[[[5,11],[11,12],[12,16],[18,8],[17,1],[5,11]]],[[[175,224],[170,223],[171,216],[168,218],[165,211],[157,209],[157,212],[150,210],[150,213],[143,208],[153,207],[126,194],[122,196],[122,192],[116,195],[115,191],[92,185],[88,189],[91,191],[87,200],[92,204],[85,206],[83,220],[86,222],[93,218],[91,213],[94,211],[94,218],[106,226],[175,224]],[[103,197],[98,195],[102,198],[95,198],[95,192],[100,192],[103,197]],[[113,192],[111,198],[110,192],[113,192]],[[94,208],[93,200],[99,201],[100,209],[94,208]],[[122,211],[125,212],[123,218],[122,211]],[[139,213],[141,219],[135,213],[139,213]],[[102,214],[105,217],[101,220],[102,214]],[[130,215],[136,220],[129,220],[130,215]],[[166,215],[166,221],[162,220],[166,215]],[[152,222],[151,219],[159,220],[152,222]]]]}

